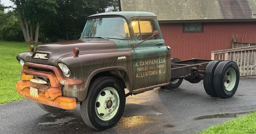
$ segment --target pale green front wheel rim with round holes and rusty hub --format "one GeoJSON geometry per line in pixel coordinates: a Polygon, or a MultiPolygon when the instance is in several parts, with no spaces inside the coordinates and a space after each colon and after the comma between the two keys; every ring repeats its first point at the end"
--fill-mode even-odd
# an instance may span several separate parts
{"type": "Polygon", "coordinates": [[[118,111],[119,101],[118,92],[113,87],[106,87],[100,91],[95,102],[98,118],[105,121],[112,119],[118,111]]]}

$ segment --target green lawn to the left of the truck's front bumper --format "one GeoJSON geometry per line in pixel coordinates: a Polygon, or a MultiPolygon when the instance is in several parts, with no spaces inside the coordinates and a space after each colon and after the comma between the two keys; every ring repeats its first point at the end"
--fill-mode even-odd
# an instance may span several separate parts
{"type": "Polygon", "coordinates": [[[16,82],[21,79],[19,71],[22,70],[16,56],[30,51],[29,46],[28,43],[0,41],[0,104],[24,99],[15,88],[16,82]]]}

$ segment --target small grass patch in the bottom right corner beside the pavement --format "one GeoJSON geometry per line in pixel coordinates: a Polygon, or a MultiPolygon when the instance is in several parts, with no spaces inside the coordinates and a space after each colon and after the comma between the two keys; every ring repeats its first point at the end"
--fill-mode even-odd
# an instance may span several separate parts
{"type": "Polygon", "coordinates": [[[256,112],[211,126],[200,134],[256,134],[256,112]]]}

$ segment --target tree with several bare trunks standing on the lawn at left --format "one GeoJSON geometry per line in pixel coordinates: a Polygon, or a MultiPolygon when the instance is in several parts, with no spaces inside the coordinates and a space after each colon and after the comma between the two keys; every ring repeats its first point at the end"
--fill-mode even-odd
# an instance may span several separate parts
{"type": "Polygon", "coordinates": [[[11,0],[16,5],[25,42],[38,43],[39,28],[48,16],[56,14],[56,0],[11,0]],[[33,37],[34,35],[34,37],[33,37]]]}

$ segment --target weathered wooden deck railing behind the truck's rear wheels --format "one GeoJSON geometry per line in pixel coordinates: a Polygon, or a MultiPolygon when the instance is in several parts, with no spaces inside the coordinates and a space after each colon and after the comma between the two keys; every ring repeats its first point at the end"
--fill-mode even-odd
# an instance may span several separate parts
{"type": "Polygon", "coordinates": [[[240,76],[256,75],[256,46],[212,51],[212,60],[235,61],[240,76]]]}

